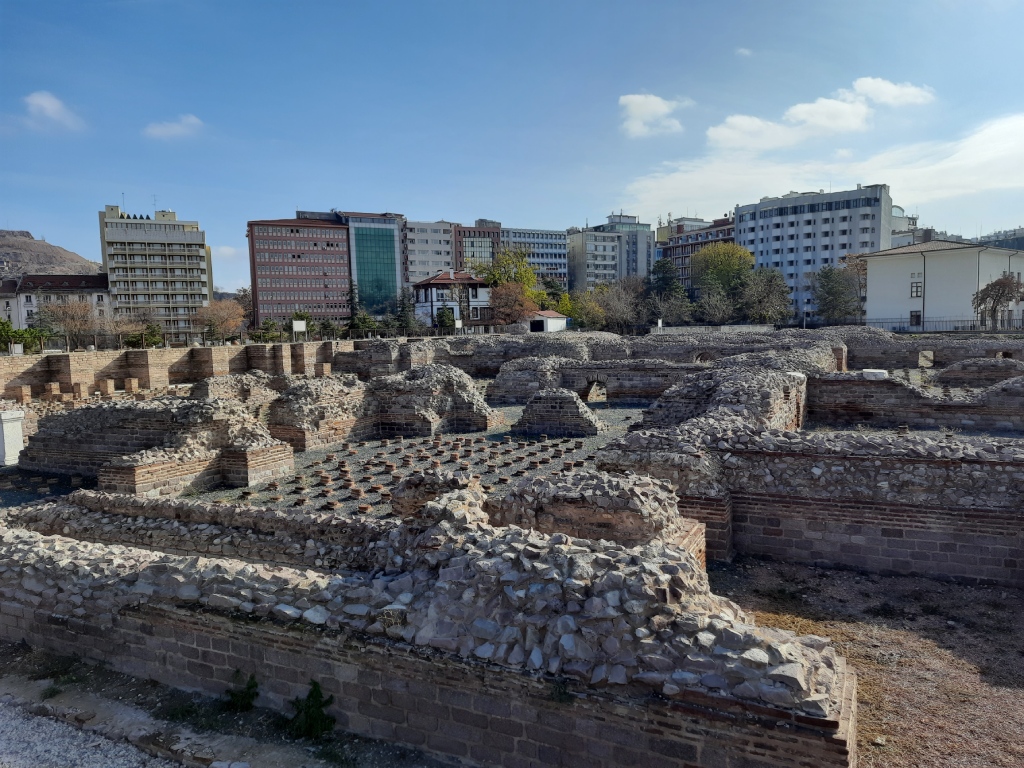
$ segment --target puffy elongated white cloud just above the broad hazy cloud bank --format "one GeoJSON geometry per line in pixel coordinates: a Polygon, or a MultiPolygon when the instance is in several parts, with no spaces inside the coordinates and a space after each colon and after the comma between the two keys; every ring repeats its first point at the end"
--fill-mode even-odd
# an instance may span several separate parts
{"type": "Polygon", "coordinates": [[[764,152],[794,146],[810,138],[865,131],[874,110],[870,102],[887,106],[923,104],[934,98],[932,91],[909,83],[896,84],[881,78],[859,78],[853,89],[840,89],[831,97],[794,104],[781,122],[752,115],[730,115],[708,129],[708,141],[722,150],[764,152]]]}

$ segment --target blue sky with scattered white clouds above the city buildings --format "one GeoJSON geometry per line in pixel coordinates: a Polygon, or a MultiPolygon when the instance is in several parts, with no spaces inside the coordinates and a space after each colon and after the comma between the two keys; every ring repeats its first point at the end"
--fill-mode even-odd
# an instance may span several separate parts
{"type": "Polygon", "coordinates": [[[889,183],[1024,224],[1016,0],[0,0],[0,227],[198,219],[218,286],[296,208],[563,228],[889,183]]]}

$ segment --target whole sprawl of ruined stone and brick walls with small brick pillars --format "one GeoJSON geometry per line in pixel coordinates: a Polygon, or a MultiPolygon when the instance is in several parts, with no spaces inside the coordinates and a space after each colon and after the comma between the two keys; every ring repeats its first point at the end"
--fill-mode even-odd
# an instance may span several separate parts
{"type": "Polygon", "coordinates": [[[855,766],[737,556],[1019,588],[1024,341],[865,328],[0,359],[0,639],[462,765],[855,766]]]}

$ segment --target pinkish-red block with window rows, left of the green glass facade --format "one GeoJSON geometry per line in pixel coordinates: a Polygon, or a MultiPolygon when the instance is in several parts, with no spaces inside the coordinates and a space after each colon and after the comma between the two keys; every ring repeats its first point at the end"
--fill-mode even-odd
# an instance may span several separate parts
{"type": "Polygon", "coordinates": [[[338,220],[261,219],[246,226],[253,318],[279,324],[296,311],[315,321],[351,316],[349,227],[338,220]]]}

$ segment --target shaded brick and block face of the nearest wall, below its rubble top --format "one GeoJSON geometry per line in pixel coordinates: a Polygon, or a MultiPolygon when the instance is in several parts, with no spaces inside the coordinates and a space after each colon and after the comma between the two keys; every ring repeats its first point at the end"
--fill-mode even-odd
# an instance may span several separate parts
{"type": "Polygon", "coordinates": [[[463,764],[541,768],[838,768],[856,765],[855,681],[835,720],[769,707],[590,690],[552,700],[550,683],[469,659],[290,631],[267,623],[142,608],[108,621],[56,616],[0,601],[7,640],[84,657],[176,687],[220,694],[236,670],[255,673],[260,706],[288,711],[309,680],[335,696],[338,727],[463,764]]]}

